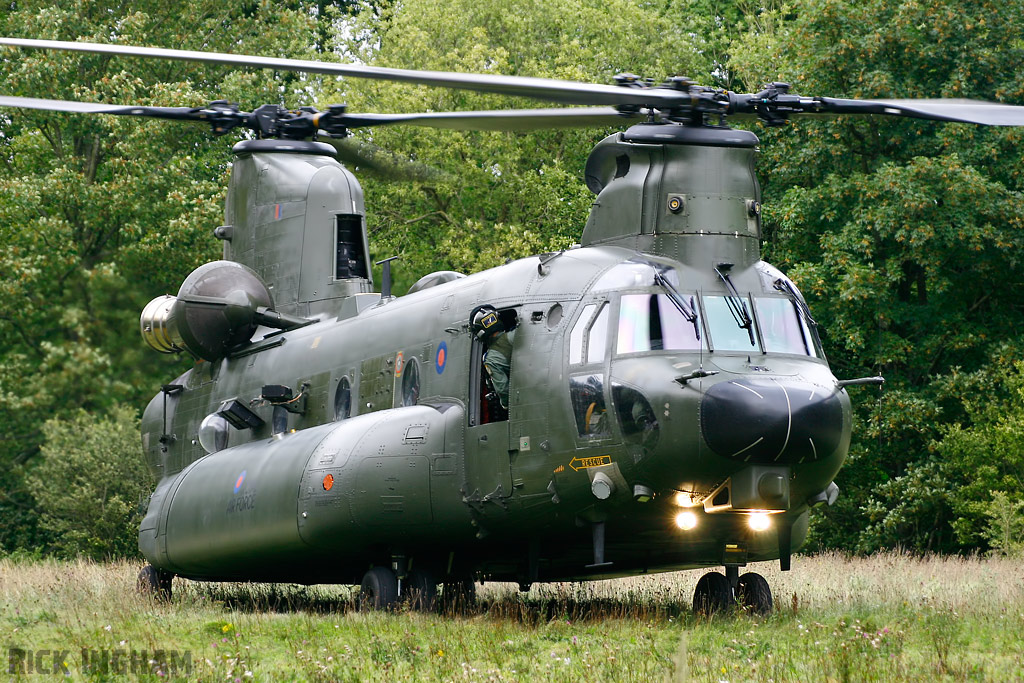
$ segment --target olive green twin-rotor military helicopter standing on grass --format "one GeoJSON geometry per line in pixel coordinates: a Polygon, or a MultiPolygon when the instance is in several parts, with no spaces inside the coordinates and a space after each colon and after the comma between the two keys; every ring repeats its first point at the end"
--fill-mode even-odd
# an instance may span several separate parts
{"type": "Polygon", "coordinates": [[[0,97],[0,105],[248,128],[232,150],[223,259],[154,299],[141,334],[188,372],[145,409],[158,484],[144,589],[203,581],[358,584],[362,604],[472,599],[474,581],[589,581],[695,567],[694,608],[772,607],[752,562],[791,557],[830,505],[851,434],[800,291],[761,260],[758,137],[797,114],[1024,125],[968,100],[737,94],[381,69],[160,48],[2,45],[186,59],[525,96],[556,110],[350,114],[0,97]],[[362,193],[324,140],[375,125],[622,125],[585,175],[580,245],[374,292],[362,193]],[[630,124],[627,127],[627,124],[630,124]],[[311,139],[318,138],[318,139],[311,139]],[[511,349],[501,372],[487,358],[511,349]],[[485,368],[486,366],[486,368],[485,368]],[[489,369],[489,370],[488,370],[489,369]],[[496,381],[502,379],[502,381],[496,381]]]}

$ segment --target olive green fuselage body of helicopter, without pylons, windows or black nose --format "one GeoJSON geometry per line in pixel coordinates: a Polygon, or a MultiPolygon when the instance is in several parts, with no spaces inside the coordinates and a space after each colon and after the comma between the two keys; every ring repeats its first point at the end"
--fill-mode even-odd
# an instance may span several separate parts
{"type": "MultiPolygon", "coordinates": [[[[767,369],[766,377],[797,376],[822,391],[834,391],[835,380],[812,357],[616,355],[613,338],[599,357],[571,364],[569,338],[588,306],[604,304],[613,313],[624,295],[657,292],[641,286],[581,296],[581,284],[635,256],[616,247],[579,249],[546,264],[544,275],[540,259],[524,259],[198,362],[178,381],[182,390],[166,400],[158,395],[145,414],[143,442],[162,478],[142,524],[144,554],[185,577],[352,583],[393,555],[444,572],[468,565],[511,580],[530,573],[532,553],[542,581],[721,564],[727,544],[742,544],[749,561],[777,557],[775,535],[749,531],[738,514],[702,514],[692,531],[673,523],[680,510],[674,492],[707,494],[743,464],[705,442],[701,396],[751,368],[767,369]],[[467,323],[481,302],[514,310],[518,319],[509,419],[488,424],[473,419],[479,411],[470,398],[467,323]],[[414,366],[417,404],[402,405],[402,380],[414,366]],[[719,374],[675,381],[698,367],[719,374]],[[596,435],[581,434],[569,392],[574,376],[600,377],[608,408],[616,400],[608,391],[613,382],[642,390],[657,415],[657,443],[627,438],[614,410],[606,410],[596,435]],[[255,407],[264,424],[228,429],[226,447],[207,455],[199,442],[203,420],[224,400],[249,404],[268,384],[308,385],[305,413],[289,414],[286,432],[271,436],[272,409],[255,407]],[[342,384],[350,387],[350,416],[336,420],[342,384]],[[165,421],[175,437],[168,453],[165,421]],[[614,490],[601,500],[592,479],[604,470],[614,490]],[[657,495],[637,502],[635,484],[657,495]],[[589,570],[589,524],[601,520],[611,564],[589,570]]],[[[753,269],[749,276],[760,282],[753,269]]],[[[591,340],[588,352],[596,345],[591,340]]],[[[782,514],[795,518],[798,541],[806,523],[800,503],[839,469],[848,420],[841,447],[792,473],[795,504],[782,514]]]]}

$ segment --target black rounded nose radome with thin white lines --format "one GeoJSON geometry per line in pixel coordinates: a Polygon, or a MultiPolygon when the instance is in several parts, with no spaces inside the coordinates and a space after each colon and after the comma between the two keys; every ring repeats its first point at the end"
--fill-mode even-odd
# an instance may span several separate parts
{"type": "Polygon", "coordinates": [[[700,430],[712,451],[751,463],[803,463],[835,453],[843,405],[834,391],[786,379],[743,379],[711,387],[700,430]]]}

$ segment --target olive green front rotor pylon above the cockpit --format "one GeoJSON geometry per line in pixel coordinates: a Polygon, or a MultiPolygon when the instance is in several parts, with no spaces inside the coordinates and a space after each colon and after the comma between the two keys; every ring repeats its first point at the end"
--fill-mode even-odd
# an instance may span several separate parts
{"type": "Polygon", "coordinates": [[[641,124],[587,161],[597,195],[581,244],[614,245],[707,269],[760,259],[758,137],[730,128],[641,124]]]}

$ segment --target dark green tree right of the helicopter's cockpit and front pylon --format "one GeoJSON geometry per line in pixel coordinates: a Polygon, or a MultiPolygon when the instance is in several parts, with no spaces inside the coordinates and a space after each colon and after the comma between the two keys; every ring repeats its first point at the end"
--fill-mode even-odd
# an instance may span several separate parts
{"type": "MultiPolygon", "coordinates": [[[[1015,3],[802,0],[734,46],[748,78],[805,95],[1024,102],[1015,3]],[[777,50],[759,53],[770,43],[777,50]],[[756,75],[756,76],[754,76],[756,75]]],[[[765,131],[767,257],[794,278],[840,377],[859,390],[841,503],[816,524],[827,546],[952,550],[956,474],[943,425],[970,428],[956,387],[1024,319],[1022,132],[893,117],[794,122],[765,131]],[[866,515],[866,519],[865,519],[866,515]],[[864,530],[865,522],[870,528],[864,530]]]]}

